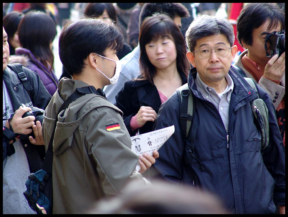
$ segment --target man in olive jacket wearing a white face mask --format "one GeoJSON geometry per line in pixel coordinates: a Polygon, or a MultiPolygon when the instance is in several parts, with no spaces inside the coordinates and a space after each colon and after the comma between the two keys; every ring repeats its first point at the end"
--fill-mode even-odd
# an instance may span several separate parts
{"type": "Polygon", "coordinates": [[[141,173],[155,163],[153,156],[138,156],[122,112],[109,103],[102,89],[117,82],[118,51],[124,43],[114,24],[83,19],[67,25],[59,38],[59,55],[72,79],[62,78],[46,108],[43,138],[48,147],[56,114],[62,103],[82,87],[94,87],[58,116],[53,142],[53,214],[87,213],[96,201],[117,195],[132,179],[149,183],[141,173]],[[140,159],[139,159],[140,158],[140,159]],[[137,163],[141,170],[135,171],[137,163]]]}

